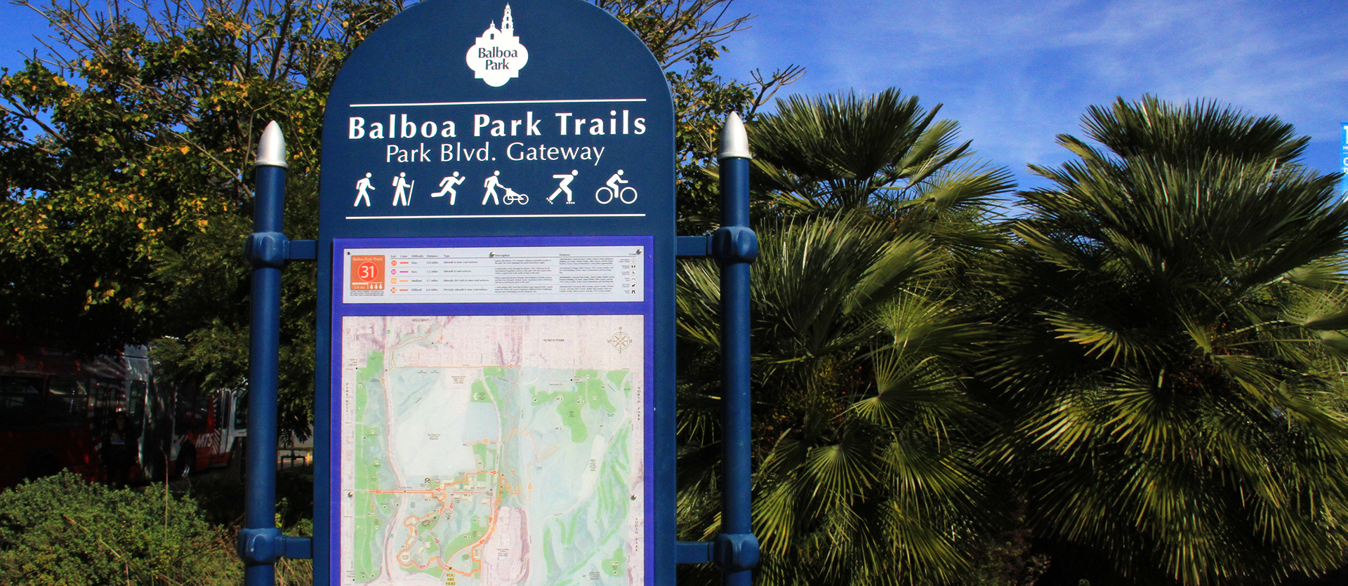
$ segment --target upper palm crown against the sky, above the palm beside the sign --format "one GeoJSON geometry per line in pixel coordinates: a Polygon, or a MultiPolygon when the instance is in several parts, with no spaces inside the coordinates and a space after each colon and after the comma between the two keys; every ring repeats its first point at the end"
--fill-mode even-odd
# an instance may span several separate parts
{"type": "Polygon", "coordinates": [[[865,209],[903,216],[989,203],[1006,170],[964,164],[960,125],[896,88],[875,96],[791,96],[749,124],[755,179],[785,211],[865,209]]]}

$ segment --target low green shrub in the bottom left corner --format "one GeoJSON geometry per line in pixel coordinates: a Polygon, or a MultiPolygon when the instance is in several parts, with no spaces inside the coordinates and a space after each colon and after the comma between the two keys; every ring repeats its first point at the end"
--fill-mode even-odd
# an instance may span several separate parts
{"type": "Polygon", "coordinates": [[[226,536],[190,498],[112,490],[71,473],[0,493],[0,583],[240,582],[226,536]]]}

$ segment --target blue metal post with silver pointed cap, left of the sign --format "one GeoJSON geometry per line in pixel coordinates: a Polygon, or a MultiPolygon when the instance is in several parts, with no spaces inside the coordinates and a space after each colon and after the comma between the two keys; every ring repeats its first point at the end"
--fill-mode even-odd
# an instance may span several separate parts
{"type": "Polygon", "coordinates": [[[239,536],[247,586],[275,583],[276,529],[276,384],[280,361],[280,271],[288,241],[282,234],[286,209],[284,139],[276,123],[257,145],[253,233],[245,245],[252,271],[252,321],[248,334],[248,485],[244,532],[239,536]],[[270,135],[270,136],[268,136],[270,135]],[[279,154],[275,144],[279,141],[279,154]],[[279,155],[279,156],[276,156],[279,155]]]}

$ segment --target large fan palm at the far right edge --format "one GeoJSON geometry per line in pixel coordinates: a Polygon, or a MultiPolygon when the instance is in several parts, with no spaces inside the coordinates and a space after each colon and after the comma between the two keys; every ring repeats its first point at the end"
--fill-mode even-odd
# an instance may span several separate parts
{"type": "Polygon", "coordinates": [[[1051,186],[1019,194],[1019,247],[989,275],[1004,296],[983,379],[1008,414],[991,461],[1042,535],[1108,562],[1082,570],[1095,585],[1337,566],[1337,176],[1295,163],[1291,125],[1215,102],[1120,98],[1084,129],[1099,145],[1064,135],[1077,159],[1033,167],[1051,186]]]}

